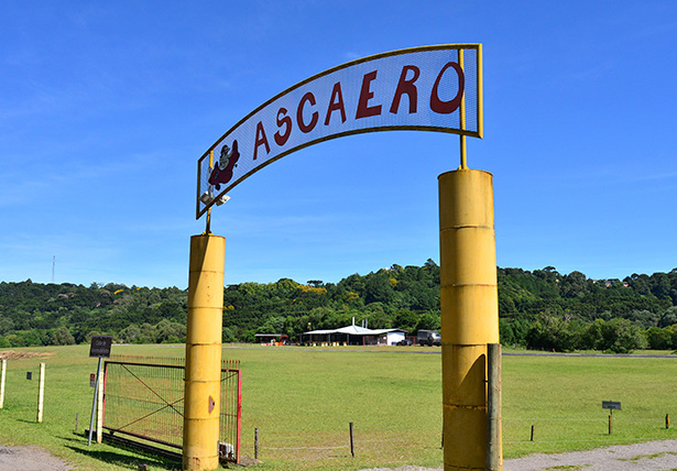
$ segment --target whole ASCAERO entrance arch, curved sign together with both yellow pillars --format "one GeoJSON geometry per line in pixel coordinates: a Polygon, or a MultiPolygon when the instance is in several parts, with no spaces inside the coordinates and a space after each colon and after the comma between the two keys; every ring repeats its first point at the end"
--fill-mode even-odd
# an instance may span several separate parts
{"type": "Polygon", "coordinates": [[[460,135],[459,168],[439,176],[445,470],[502,468],[492,175],[468,168],[465,141],[482,136],[482,46],[445,44],[309,77],[242,118],[198,158],[196,218],[208,217],[190,242],[184,469],[218,465],[225,240],[210,233],[210,208],[292,152],[396,130],[460,135]],[[490,357],[498,360],[490,364],[490,357]]]}

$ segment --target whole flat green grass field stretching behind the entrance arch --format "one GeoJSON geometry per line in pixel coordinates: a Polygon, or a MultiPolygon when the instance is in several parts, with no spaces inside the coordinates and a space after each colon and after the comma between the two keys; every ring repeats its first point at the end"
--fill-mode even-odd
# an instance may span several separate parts
{"type": "MultiPolygon", "coordinates": [[[[97,362],[87,346],[14,349],[42,358],[8,362],[0,443],[39,445],[83,470],[166,469],[108,445],[87,447],[97,362]],[[35,423],[39,363],[46,363],[43,424],[35,423]],[[25,372],[33,372],[33,381],[25,372]],[[79,414],[79,435],[74,434],[79,414]]],[[[440,467],[439,349],[226,346],[243,370],[242,452],[262,470],[440,467]],[[417,353],[418,352],[418,353],[417,353]],[[423,353],[422,353],[423,352],[423,353]],[[435,353],[434,353],[435,352],[435,353]],[[356,457],[350,456],[349,423],[356,457]]],[[[183,346],[113,346],[113,354],[182,357],[183,346]]],[[[505,458],[677,438],[677,358],[504,357],[505,458]],[[620,401],[609,436],[602,401],[620,401]],[[534,441],[531,428],[534,426],[534,441]]]]}

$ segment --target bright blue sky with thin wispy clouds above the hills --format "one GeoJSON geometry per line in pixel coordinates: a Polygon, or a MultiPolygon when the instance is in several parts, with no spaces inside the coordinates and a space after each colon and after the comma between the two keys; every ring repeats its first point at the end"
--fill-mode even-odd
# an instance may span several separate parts
{"type": "MultiPolygon", "coordinates": [[[[677,2],[2,2],[0,280],[187,286],[197,158],[345,62],[482,43],[500,266],[677,266],[677,2]]],[[[458,136],[382,132],[267,166],[212,211],[226,283],[439,261],[458,136]]]]}

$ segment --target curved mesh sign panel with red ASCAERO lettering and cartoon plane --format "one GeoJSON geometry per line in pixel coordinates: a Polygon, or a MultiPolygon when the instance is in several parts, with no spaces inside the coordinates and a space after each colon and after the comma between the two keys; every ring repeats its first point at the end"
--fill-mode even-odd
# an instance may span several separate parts
{"type": "Polygon", "coordinates": [[[481,44],[364,57],[271,98],[198,160],[197,218],[244,178],[294,151],[341,135],[391,130],[481,138],[481,44]]]}

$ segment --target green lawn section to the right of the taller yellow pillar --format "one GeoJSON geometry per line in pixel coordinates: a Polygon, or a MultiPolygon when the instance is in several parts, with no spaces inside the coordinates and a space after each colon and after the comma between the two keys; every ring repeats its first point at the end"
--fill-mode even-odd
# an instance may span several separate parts
{"type": "Polygon", "coordinates": [[[677,359],[505,357],[504,454],[677,438],[677,359]],[[609,436],[602,401],[619,401],[609,436]],[[529,441],[531,426],[535,427],[529,441]]]}

